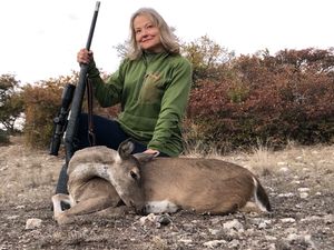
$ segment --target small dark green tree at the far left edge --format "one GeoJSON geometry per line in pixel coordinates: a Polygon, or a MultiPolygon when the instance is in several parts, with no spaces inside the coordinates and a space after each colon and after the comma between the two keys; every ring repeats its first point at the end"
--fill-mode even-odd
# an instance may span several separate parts
{"type": "Polygon", "coordinates": [[[13,74],[0,76],[0,124],[8,133],[13,133],[14,122],[23,111],[19,81],[13,74]]]}

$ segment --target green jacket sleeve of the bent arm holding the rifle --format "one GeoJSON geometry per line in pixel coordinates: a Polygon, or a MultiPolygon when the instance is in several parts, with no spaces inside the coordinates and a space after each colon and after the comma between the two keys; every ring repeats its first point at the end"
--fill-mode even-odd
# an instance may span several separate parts
{"type": "Polygon", "coordinates": [[[111,107],[120,102],[124,87],[124,74],[121,72],[122,64],[105,82],[95,62],[92,61],[89,64],[88,77],[92,81],[95,97],[102,108],[111,107]]]}

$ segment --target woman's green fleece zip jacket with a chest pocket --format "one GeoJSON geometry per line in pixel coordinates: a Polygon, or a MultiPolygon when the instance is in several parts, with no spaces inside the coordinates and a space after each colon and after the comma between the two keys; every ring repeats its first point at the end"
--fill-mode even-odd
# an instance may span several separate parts
{"type": "Polygon", "coordinates": [[[185,58],[144,53],[138,60],[125,59],[107,82],[95,62],[88,74],[101,107],[121,104],[117,121],[125,132],[171,157],[183,151],[180,126],[193,78],[185,58]]]}

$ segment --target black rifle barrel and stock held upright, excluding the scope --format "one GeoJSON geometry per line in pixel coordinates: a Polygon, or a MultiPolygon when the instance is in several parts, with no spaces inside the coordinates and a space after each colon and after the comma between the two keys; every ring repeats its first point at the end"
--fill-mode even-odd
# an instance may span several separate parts
{"type": "MultiPolygon", "coordinates": [[[[98,17],[100,8],[100,1],[96,2],[91,24],[90,24],[90,30],[88,34],[88,40],[86,43],[86,49],[90,50],[90,44],[92,40],[92,34],[98,17]]],[[[71,109],[69,112],[69,118],[67,121],[67,128],[65,131],[65,150],[66,150],[66,163],[62,166],[62,169],[59,173],[59,179],[57,183],[57,189],[56,193],[68,193],[67,191],[67,181],[68,181],[68,176],[67,176],[67,167],[68,162],[70,161],[71,157],[75,153],[75,142],[73,138],[77,133],[77,128],[78,128],[78,121],[79,121],[79,114],[81,113],[81,106],[82,106],[82,100],[84,100],[84,94],[86,90],[86,82],[87,82],[87,73],[88,73],[88,64],[80,64],[80,73],[79,73],[79,82],[77,84],[72,103],[71,103],[71,109]]]]}

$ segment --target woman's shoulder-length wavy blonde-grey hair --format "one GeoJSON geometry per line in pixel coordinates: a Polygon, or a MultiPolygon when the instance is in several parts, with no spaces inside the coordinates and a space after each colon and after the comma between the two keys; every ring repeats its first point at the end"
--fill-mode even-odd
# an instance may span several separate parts
{"type": "Polygon", "coordinates": [[[137,10],[131,19],[130,19],[130,40],[129,40],[129,52],[128,58],[130,60],[136,60],[141,57],[143,50],[140,46],[136,41],[136,33],[135,33],[135,27],[134,27],[134,20],[136,17],[145,14],[151,19],[154,24],[158,27],[160,31],[160,41],[165,50],[171,54],[179,54],[180,46],[177,41],[177,38],[166,23],[166,21],[163,19],[163,17],[151,8],[140,8],[137,10]]]}

